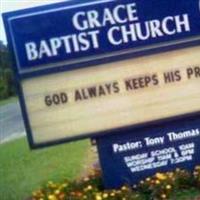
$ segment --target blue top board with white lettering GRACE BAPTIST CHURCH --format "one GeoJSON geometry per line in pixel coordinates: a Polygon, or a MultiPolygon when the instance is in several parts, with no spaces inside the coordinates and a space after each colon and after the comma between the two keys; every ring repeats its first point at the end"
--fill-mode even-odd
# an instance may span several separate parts
{"type": "Polygon", "coordinates": [[[199,0],[73,0],[3,18],[22,77],[191,46],[200,39],[199,0]]]}

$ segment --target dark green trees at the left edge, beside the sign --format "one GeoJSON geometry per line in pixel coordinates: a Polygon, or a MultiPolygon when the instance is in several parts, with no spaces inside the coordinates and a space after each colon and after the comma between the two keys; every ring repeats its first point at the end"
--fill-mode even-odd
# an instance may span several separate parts
{"type": "Polygon", "coordinates": [[[0,49],[0,100],[15,95],[11,59],[6,46],[0,49]]]}

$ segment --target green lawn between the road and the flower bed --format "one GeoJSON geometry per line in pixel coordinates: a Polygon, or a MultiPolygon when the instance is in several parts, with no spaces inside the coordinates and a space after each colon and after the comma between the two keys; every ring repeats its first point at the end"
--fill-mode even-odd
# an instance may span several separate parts
{"type": "Polygon", "coordinates": [[[24,200],[49,180],[76,178],[88,150],[88,141],[37,151],[31,151],[25,139],[0,145],[0,199],[24,200]]]}

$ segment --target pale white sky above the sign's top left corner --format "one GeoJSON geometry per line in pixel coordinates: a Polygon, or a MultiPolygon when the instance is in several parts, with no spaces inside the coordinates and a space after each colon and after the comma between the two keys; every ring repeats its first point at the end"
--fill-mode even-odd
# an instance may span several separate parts
{"type": "Polygon", "coordinates": [[[7,44],[1,16],[2,13],[62,1],[64,0],[0,0],[0,40],[3,40],[3,43],[7,44]]]}

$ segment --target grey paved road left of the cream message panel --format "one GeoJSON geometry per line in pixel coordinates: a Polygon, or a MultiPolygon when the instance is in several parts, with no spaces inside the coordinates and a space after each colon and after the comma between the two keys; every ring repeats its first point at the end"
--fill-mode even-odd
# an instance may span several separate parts
{"type": "Polygon", "coordinates": [[[18,102],[0,106],[0,143],[25,135],[18,102]]]}

